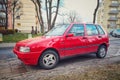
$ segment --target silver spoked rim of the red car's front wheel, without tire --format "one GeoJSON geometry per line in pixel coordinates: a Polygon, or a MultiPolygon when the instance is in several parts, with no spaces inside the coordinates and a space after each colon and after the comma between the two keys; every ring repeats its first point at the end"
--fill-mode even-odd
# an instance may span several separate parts
{"type": "Polygon", "coordinates": [[[53,54],[46,54],[43,57],[43,64],[46,67],[52,67],[56,63],[56,57],[53,54]]]}

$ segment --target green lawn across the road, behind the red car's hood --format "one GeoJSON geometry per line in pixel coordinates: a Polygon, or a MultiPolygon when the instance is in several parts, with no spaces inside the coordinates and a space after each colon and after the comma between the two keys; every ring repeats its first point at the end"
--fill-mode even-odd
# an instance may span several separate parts
{"type": "MultiPolygon", "coordinates": [[[[34,34],[32,37],[41,36],[42,34],[34,34]]],[[[15,33],[3,36],[3,42],[18,42],[28,38],[27,33],[15,33]]]]}

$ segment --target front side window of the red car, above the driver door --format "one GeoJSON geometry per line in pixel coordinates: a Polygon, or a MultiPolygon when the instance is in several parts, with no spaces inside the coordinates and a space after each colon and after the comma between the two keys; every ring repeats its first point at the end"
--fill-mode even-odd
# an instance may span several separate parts
{"type": "Polygon", "coordinates": [[[69,33],[73,33],[75,36],[84,36],[84,25],[74,24],[69,33]]]}

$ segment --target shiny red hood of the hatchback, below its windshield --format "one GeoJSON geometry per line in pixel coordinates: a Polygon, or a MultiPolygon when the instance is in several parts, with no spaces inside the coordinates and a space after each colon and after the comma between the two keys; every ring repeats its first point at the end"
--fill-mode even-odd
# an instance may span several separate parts
{"type": "Polygon", "coordinates": [[[18,45],[22,45],[22,46],[31,46],[33,44],[38,44],[38,43],[44,43],[49,42],[49,41],[54,41],[54,40],[58,40],[60,36],[41,36],[41,37],[35,37],[35,38],[31,38],[31,39],[26,39],[26,40],[22,40],[19,41],[17,44],[18,45]]]}

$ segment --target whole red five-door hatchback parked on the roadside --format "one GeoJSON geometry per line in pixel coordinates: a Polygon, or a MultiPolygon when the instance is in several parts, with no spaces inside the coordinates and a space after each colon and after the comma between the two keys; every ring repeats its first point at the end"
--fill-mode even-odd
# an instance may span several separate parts
{"type": "Polygon", "coordinates": [[[51,69],[68,56],[96,53],[104,58],[108,46],[108,34],[100,25],[71,23],[56,26],[44,36],[20,41],[13,51],[25,64],[51,69]]]}

